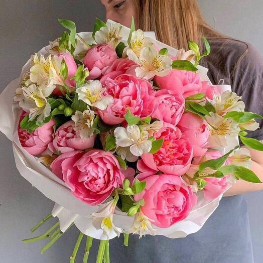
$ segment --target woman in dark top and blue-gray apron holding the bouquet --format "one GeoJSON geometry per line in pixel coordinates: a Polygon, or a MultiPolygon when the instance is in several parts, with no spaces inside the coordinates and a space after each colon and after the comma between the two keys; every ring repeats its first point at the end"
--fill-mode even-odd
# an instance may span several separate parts
{"type": "MultiPolygon", "coordinates": [[[[263,113],[263,59],[249,44],[237,41],[212,29],[202,18],[196,0],[101,0],[106,17],[137,28],[155,31],[157,39],[177,49],[188,50],[188,41],[202,46],[205,36],[211,55],[201,64],[209,69],[213,84],[220,80],[230,84],[242,96],[246,110],[263,113]]],[[[263,122],[260,121],[260,127],[263,122]]],[[[249,133],[263,139],[263,129],[249,133]]],[[[251,169],[263,181],[263,152],[251,150],[251,169]]],[[[263,189],[263,184],[238,181],[225,194],[217,210],[197,233],[182,239],[146,236],[139,240],[130,236],[129,247],[121,247],[121,239],[111,241],[112,262],[253,262],[251,238],[244,192],[263,189]],[[235,196],[234,196],[235,195],[235,196]]]]}

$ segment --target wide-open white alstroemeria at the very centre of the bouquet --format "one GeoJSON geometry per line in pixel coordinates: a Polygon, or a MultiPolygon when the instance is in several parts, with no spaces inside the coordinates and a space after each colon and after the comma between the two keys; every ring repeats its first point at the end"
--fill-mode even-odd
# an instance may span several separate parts
{"type": "Polygon", "coordinates": [[[151,151],[152,142],[148,140],[148,132],[141,131],[137,125],[128,125],[127,128],[116,127],[114,136],[117,146],[129,147],[130,152],[135,156],[139,157],[151,151]]]}

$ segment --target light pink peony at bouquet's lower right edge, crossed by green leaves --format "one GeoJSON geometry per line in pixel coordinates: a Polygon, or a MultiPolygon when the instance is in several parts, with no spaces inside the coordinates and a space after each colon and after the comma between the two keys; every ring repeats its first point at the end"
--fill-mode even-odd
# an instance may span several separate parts
{"type": "MultiPolygon", "coordinates": [[[[201,162],[211,160],[211,159],[218,159],[222,156],[222,154],[219,151],[212,151],[212,152],[206,152],[203,157],[200,158],[194,158],[193,164],[199,165],[201,162]]],[[[225,162],[225,165],[230,164],[230,162],[227,160],[225,162]]],[[[222,177],[222,178],[204,178],[204,180],[207,182],[206,186],[204,187],[204,197],[215,199],[219,195],[221,195],[228,187],[228,175],[222,177]]]]}

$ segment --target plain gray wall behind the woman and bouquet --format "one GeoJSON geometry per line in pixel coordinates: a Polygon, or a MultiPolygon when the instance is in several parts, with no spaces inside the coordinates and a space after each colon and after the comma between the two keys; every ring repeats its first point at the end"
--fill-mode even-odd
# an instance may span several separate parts
{"type": "MultiPolygon", "coordinates": [[[[261,51],[261,0],[198,2],[207,21],[218,31],[247,41],[261,51]]],[[[81,32],[92,31],[96,17],[104,18],[99,0],[0,0],[0,91],[20,74],[21,67],[34,52],[61,35],[63,28],[57,23],[57,18],[75,21],[77,32],[81,32]]],[[[45,255],[40,254],[45,241],[27,245],[21,242],[22,238],[32,236],[29,229],[50,213],[53,202],[19,175],[12,144],[2,134],[0,145],[0,262],[68,262],[78,235],[74,227],[45,255]]],[[[259,263],[262,262],[263,211],[258,203],[263,200],[263,192],[249,193],[245,197],[249,207],[254,260],[259,263]]],[[[48,225],[55,222],[52,220],[48,225]]],[[[83,244],[79,251],[77,263],[82,262],[83,244]]]]}

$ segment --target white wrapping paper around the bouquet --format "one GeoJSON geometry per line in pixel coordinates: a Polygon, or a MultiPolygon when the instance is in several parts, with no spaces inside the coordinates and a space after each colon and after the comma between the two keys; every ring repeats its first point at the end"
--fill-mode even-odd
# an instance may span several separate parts
{"type": "MultiPolygon", "coordinates": [[[[129,29],[124,28],[123,34],[128,35],[129,29]]],[[[146,34],[153,38],[153,42],[159,48],[167,48],[170,55],[176,55],[177,50],[155,40],[153,32],[146,34]]],[[[79,33],[79,35],[88,43],[92,42],[91,33],[84,32],[79,33]]],[[[41,49],[38,54],[47,54],[46,49],[48,47],[41,49]]],[[[78,52],[78,50],[81,50],[81,44],[77,47],[76,52],[78,52]]],[[[29,66],[30,61],[28,61],[23,67],[21,77],[12,81],[0,95],[0,130],[9,140],[13,141],[13,150],[18,171],[47,198],[55,202],[52,215],[59,218],[60,229],[63,232],[72,222],[74,222],[77,228],[84,234],[97,239],[107,239],[102,230],[96,230],[93,227],[89,218],[93,212],[98,210],[99,206],[89,206],[76,199],[62,180],[56,177],[47,167],[40,164],[34,156],[31,156],[20,145],[17,126],[21,109],[18,103],[13,101],[13,98],[15,95],[15,89],[19,86],[22,76],[29,70],[29,66]]],[[[209,81],[206,76],[207,71],[206,68],[199,66],[199,73],[202,80],[209,81]]],[[[221,90],[229,89],[229,87],[226,87],[225,85],[220,85],[218,88],[221,90]]],[[[198,203],[189,216],[185,220],[180,221],[169,228],[157,228],[158,234],[170,238],[178,238],[197,232],[217,208],[221,197],[222,195],[215,200],[209,200],[205,199],[202,196],[202,193],[198,193],[198,203]]],[[[133,224],[133,220],[134,218],[128,217],[126,213],[118,209],[115,210],[113,222],[117,227],[128,229],[133,224]]],[[[116,237],[116,234],[112,232],[109,235],[109,239],[114,237],[116,237]]]]}

